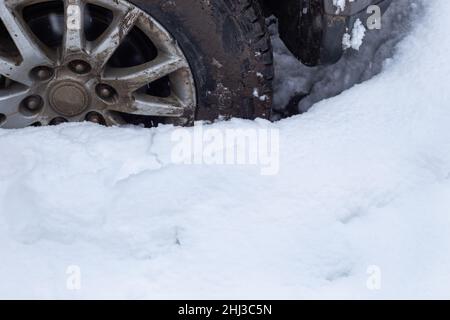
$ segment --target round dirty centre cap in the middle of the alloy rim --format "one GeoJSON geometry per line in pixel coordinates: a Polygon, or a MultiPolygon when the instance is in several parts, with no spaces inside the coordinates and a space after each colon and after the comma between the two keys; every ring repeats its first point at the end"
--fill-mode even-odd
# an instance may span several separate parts
{"type": "Polygon", "coordinates": [[[75,82],[62,82],[50,90],[52,108],[67,117],[73,117],[87,109],[89,95],[87,90],[75,82]]]}

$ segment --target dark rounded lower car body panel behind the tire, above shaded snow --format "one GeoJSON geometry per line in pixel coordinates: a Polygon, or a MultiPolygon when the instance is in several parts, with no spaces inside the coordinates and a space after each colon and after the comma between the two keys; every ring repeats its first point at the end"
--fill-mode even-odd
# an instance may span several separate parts
{"type": "Polygon", "coordinates": [[[347,0],[344,11],[333,0],[260,0],[266,14],[279,20],[280,37],[304,64],[337,62],[343,54],[342,39],[357,19],[367,21],[367,8],[378,5],[386,11],[392,0],[347,0]]]}

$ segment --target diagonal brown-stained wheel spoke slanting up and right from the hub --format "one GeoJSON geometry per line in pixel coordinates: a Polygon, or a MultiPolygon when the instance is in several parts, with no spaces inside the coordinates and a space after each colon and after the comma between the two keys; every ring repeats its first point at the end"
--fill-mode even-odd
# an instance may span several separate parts
{"type": "Polygon", "coordinates": [[[102,69],[106,65],[123,39],[134,27],[140,14],[140,11],[135,7],[131,7],[126,13],[118,13],[104,34],[95,41],[91,56],[97,69],[102,69]]]}

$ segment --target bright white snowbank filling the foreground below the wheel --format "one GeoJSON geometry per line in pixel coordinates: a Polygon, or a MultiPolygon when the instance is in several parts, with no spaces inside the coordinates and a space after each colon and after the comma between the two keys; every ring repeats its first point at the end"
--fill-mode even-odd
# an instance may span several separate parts
{"type": "Polygon", "coordinates": [[[342,62],[378,76],[308,113],[213,125],[279,129],[275,176],[171,165],[169,126],[1,130],[0,297],[450,298],[449,15],[426,1],[383,67],[389,43],[342,62]]]}

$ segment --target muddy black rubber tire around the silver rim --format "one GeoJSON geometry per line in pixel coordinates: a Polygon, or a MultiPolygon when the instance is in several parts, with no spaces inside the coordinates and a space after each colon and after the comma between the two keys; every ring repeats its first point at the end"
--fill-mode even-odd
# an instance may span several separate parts
{"type": "Polygon", "coordinates": [[[196,84],[196,120],[270,116],[273,53],[257,1],[129,1],[184,51],[196,84]]]}

